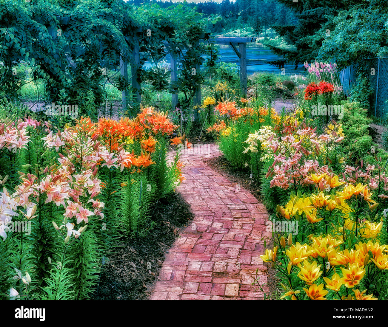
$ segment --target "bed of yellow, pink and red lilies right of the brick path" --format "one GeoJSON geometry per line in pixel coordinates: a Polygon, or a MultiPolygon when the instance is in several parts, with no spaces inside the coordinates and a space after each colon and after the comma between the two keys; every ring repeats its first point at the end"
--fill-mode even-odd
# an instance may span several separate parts
{"type": "Polygon", "coordinates": [[[386,153],[357,134],[368,124],[359,104],[342,101],[343,119],[312,115],[314,98],[340,101],[335,90],[312,82],[291,113],[220,103],[227,117],[208,129],[230,164],[261,182],[275,243],[261,258],[276,267],[283,299],[387,296],[386,153]]]}

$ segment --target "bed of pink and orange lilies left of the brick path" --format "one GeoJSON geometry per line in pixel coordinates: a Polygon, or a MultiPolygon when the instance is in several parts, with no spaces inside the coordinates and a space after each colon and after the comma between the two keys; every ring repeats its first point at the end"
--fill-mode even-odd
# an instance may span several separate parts
{"type": "Polygon", "coordinates": [[[151,107],[64,128],[0,118],[0,297],[90,298],[106,248],[146,237],[151,206],[182,181],[166,158],[178,126],[151,107]]]}

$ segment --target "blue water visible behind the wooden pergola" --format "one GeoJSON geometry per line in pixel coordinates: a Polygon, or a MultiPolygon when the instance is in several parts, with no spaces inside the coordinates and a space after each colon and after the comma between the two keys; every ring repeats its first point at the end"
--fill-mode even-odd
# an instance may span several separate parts
{"type": "MultiPolygon", "coordinates": [[[[218,47],[218,62],[232,62],[239,65],[239,57],[236,53],[230,48],[230,46],[220,46],[218,47]]],[[[281,69],[278,67],[268,64],[268,61],[281,60],[283,57],[275,55],[269,49],[264,47],[247,47],[246,48],[246,57],[247,57],[247,73],[251,75],[255,72],[273,72],[281,73],[281,69]]],[[[204,57],[206,59],[206,57],[204,57]]],[[[170,64],[171,57],[166,55],[166,60],[170,64]]],[[[145,62],[145,67],[151,67],[151,62],[145,62]]],[[[288,74],[298,74],[305,71],[303,65],[299,65],[298,69],[294,69],[293,64],[284,65],[285,73],[288,74]]]]}

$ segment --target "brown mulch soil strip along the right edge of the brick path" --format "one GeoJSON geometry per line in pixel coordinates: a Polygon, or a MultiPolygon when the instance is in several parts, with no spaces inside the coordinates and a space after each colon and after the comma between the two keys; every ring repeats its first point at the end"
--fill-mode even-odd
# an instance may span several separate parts
{"type": "MultiPolygon", "coordinates": [[[[224,156],[206,160],[206,164],[209,165],[212,169],[217,171],[219,174],[229,179],[230,182],[235,182],[240,184],[243,188],[248,190],[255,198],[262,202],[262,197],[260,195],[260,185],[254,181],[251,181],[249,170],[236,170],[230,163],[226,160],[224,156]]],[[[267,248],[271,248],[273,242],[267,242],[267,248]]],[[[264,253],[263,253],[264,254],[264,253]]],[[[269,294],[267,298],[269,299],[279,299],[280,292],[277,286],[279,285],[280,280],[276,277],[276,268],[271,267],[270,263],[265,263],[267,265],[267,274],[268,274],[268,288],[269,294]]],[[[262,282],[258,280],[260,284],[262,282]]]]}

